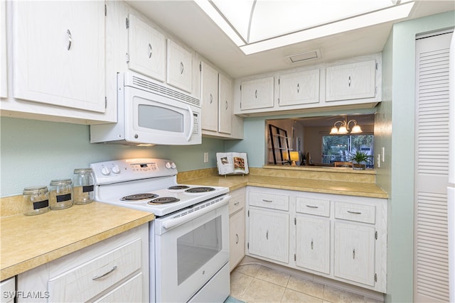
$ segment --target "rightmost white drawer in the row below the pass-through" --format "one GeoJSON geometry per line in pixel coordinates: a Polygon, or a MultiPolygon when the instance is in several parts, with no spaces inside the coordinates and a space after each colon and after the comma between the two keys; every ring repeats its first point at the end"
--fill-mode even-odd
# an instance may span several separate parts
{"type": "Polygon", "coordinates": [[[335,202],[335,218],[375,224],[376,206],[335,202]]]}

